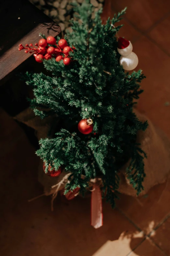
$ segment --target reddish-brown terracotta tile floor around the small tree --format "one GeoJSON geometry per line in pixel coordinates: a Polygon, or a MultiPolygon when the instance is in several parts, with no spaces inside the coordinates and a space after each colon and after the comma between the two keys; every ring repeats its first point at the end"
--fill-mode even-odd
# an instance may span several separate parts
{"type": "MultiPolygon", "coordinates": [[[[147,79],[138,109],[170,138],[170,1],[106,0],[103,20],[128,6],[120,35],[133,42],[147,79]],[[169,106],[168,106],[169,104],[169,106]]],[[[39,159],[22,129],[0,110],[1,224],[3,256],[170,255],[170,179],[147,196],[121,195],[116,210],[104,201],[104,225],[90,226],[90,199],[27,200],[42,193],[39,159]],[[81,207],[80,207],[81,206],[81,207]]]]}

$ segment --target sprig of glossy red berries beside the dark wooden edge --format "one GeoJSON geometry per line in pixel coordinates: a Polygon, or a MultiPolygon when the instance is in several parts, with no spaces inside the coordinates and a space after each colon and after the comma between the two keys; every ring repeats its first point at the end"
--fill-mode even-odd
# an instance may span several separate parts
{"type": "Polygon", "coordinates": [[[69,52],[73,52],[73,49],[68,46],[65,39],[60,39],[58,44],[56,44],[56,39],[49,36],[47,39],[40,39],[38,43],[33,46],[32,43],[28,43],[24,47],[22,44],[19,45],[19,51],[25,49],[25,53],[33,53],[37,62],[43,62],[44,59],[50,60],[51,58],[56,58],[56,61],[63,60],[64,65],[69,65],[71,59],[69,57],[69,52]],[[49,46],[53,45],[53,46],[49,46]],[[54,47],[55,46],[55,47],[54,47]]]}

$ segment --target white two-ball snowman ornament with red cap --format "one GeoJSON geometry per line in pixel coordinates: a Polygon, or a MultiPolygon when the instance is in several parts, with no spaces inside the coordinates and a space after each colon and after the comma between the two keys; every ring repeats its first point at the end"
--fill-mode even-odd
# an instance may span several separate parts
{"type": "Polygon", "coordinates": [[[130,71],[137,67],[138,58],[137,55],[132,51],[133,46],[130,41],[119,37],[117,50],[121,55],[119,62],[123,69],[130,71]]]}

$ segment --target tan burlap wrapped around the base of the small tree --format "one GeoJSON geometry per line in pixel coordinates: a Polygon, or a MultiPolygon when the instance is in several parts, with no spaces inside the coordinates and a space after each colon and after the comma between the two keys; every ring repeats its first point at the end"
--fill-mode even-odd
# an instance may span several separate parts
{"type": "MultiPolygon", "coordinates": [[[[170,141],[166,135],[159,128],[156,128],[152,122],[143,114],[134,110],[140,121],[148,120],[149,127],[145,132],[139,131],[137,133],[137,143],[141,144],[141,148],[146,152],[147,159],[145,163],[146,177],[143,182],[144,190],[139,196],[148,193],[149,189],[156,184],[163,183],[170,172],[170,141]]],[[[32,127],[36,131],[38,139],[48,137],[48,131],[50,124],[54,121],[54,117],[47,117],[41,120],[35,116],[32,110],[27,109],[21,112],[15,117],[20,122],[32,127]]],[[[120,193],[127,194],[130,196],[136,196],[136,191],[129,184],[129,180],[126,175],[126,168],[128,163],[120,169],[120,193]]],[[[40,161],[38,170],[38,180],[44,187],[45,195],[55,193],[56,187],[52,186],[58,184],[67,174],[65,171],[59,177],[51,178],[47,176],[43,171],[43,162],[40,161]]],[[[60,186],[63,189],[65,184],[60,186]]]]}

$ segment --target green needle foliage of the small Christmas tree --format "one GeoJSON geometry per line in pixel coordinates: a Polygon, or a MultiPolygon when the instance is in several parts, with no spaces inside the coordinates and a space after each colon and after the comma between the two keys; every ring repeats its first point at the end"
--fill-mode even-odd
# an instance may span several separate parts
{"type": "Polygon", "coordinates": [[[125,73],[119,64],[116,30],[121,26],[114,29],[111,24],[120,21],[125,9],[106,25],[101,22],[102,10],[92,19],[89,1],[81,7],[75,4],[75,11],[79,21],[72,21],[73,32],[65,37],[68,45],[75,47],[70,65],[52,58],[43,62],[49,76],[26,74],[26,83],[34,87],[35,98],[30,101],[35,115],[55,114],[61,124],[53,138],[40,140],[36,153],[46,162],[46,171],[50,163],[56,170],[62,165],[71,173],[66,192],[80,187],[83,193],[90,179],[101,177],[103,196],[114,207],[119,169],[129,159],[128,179],[137,195],[143,189],[146,154],[136,144],[136,133],[145,130],[147,122],[138,120],[133,105],[143,92],[139,83],[144,75],[141,70],[125,73]],[[78,122],[89,117],[94,129],[83,135],[78,122]]]}

